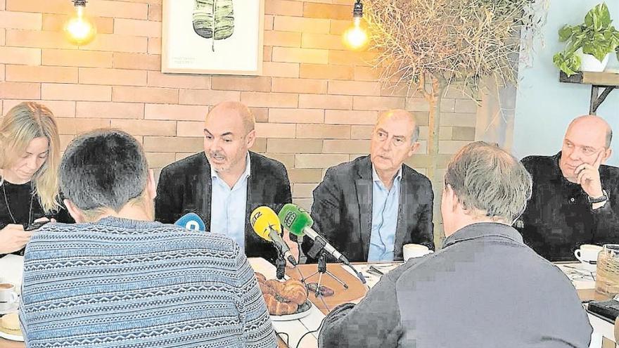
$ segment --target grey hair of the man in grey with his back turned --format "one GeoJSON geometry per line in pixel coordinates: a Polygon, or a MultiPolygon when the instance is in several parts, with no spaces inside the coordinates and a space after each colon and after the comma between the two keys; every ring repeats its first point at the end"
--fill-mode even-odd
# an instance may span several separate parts
{"type": "Polygon", "coordinates": [[[462,207],[511,224],[531,198],[531,175],[513,155],[483,141],[470,143],[454,155],[445,173],[462,207]]]}

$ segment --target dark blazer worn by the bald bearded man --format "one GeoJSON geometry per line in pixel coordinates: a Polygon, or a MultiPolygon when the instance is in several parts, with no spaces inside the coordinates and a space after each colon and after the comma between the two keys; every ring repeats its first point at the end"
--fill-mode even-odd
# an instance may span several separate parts
{"type": "MultiPolygon", "coordinates": [[[[249,152],[250,176],[245,208],[245,254],[264,257],[269,262],[276,259],[271,243],[257,236],[249,223],[251,212],[261,205],[271,207],[276,213],[292,202],[288,172],[281,162],[249,152]]],[[[196,153],[174,162],[161,171],[155,198],[155,220],[174,224],[189,212],[198,214],[207,230],[210,227],[210,164],[204,154],[196,153]]]]}

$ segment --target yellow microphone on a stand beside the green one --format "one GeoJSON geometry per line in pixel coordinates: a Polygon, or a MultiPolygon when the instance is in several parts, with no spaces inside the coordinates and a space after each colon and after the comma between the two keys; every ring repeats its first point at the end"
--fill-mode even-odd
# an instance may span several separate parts
{"type": "Polygon", "coordinates": [[[269,207],[257,207],[249,217],[254,232],[264,240],[273,243],[277,251],[288,259],[293,266],[297,265],[290,247],[281,239],[281,224],[277,214],[269,207]]]}

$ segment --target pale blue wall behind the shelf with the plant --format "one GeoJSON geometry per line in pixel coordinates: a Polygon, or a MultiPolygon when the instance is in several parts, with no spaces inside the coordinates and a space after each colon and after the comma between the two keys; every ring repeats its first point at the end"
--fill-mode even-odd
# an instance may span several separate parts
{"type": "MultiPolygon", "coordinates": [[[[563,49],[557,31],[564,24],[580,24],[587,11],[601,1],[551,0],[547,23],[542,30],[545,46],[535,47],[532,67],[521,67],[516,95],[516,117],[513,128],[512,151],[518,158],[528,155],[554,155],[570,120],[589,113],[591,87],[585,84],[559,82],[559,69],[552,64],[554,53],[563,49]]],[[[606,1],[613,25],[619,28],[619,1],[606,1]]],[[[609,65],[617,66],[614,55],[609,65]]],[[[608,165],[619,166],[619,89],[615,89],[598,108],[613,127],[614,150],[608,165]]]]}

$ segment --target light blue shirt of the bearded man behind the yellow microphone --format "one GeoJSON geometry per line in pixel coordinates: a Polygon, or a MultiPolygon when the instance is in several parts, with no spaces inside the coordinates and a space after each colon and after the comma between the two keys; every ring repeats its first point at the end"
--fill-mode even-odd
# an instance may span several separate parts
{"type": "Polygon", "coordinates": [[[212,191],[210,195],[210,231],[230,236],[245,252],[245,209],[247,207],[247,181],[250,174],[249,153],[246,155],[245,172],[230,188],[210,167],[212,191]]]}

